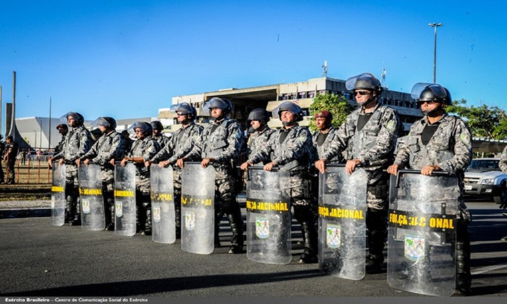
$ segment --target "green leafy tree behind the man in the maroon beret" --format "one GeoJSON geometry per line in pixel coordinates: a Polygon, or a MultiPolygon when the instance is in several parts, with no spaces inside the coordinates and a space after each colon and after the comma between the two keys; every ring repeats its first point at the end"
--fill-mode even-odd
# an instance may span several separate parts
{"type": "Polygon", "coordinates": [[[310,105],[310,114],[312,115],[309,123],[310,130],[317,130],[313,115],[322,110],[328,110],[333,114],[331,125],[338,128],[345,122],[347,116],[352,113],[354,106],[348,103],[347,99],[341,95],[330,94],[328,92],[318,94],[313,98],[313,103],[310,105]]]}

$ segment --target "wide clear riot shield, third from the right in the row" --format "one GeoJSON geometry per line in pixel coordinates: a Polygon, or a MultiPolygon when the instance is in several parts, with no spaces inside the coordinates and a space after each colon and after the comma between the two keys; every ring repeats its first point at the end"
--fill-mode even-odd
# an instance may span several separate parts
{"type": "Polygon", "coordinates": [[[250,167],[246,184],[246,256],[268,264],[291,262],[290,176],[250,167]]]}

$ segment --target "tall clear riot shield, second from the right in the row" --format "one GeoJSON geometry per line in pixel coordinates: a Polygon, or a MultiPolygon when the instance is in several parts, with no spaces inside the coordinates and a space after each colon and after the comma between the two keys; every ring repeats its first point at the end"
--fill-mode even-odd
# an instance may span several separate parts
{"type": "Polygon", "coordinates": [[[329,165],[319,174],[319,269],[329,275],[360,280],[366,273],[366,187],[363,169],[352,174],[329,165]]]}

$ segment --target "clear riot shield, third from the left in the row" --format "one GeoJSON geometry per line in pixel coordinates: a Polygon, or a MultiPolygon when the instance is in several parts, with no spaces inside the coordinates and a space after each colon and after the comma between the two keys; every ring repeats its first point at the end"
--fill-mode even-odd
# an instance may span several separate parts
{"type": "Polygon", "coordinates": [[[135,166],[115,166],[115,234],[135,235],[135,166]]]}

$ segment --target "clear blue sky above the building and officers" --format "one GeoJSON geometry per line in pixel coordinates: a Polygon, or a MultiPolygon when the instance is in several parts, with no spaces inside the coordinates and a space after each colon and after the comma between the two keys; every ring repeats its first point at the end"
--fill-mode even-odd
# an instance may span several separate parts
{"type": "Polygon", "coordinates": [[[504,1],[0,2],[0,85],[17,117],[156,117],[171,97],[387,69],[390,89],[437,82],[505,108],[504,1]]]}

